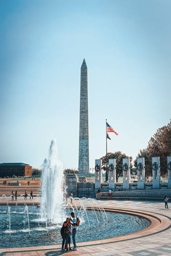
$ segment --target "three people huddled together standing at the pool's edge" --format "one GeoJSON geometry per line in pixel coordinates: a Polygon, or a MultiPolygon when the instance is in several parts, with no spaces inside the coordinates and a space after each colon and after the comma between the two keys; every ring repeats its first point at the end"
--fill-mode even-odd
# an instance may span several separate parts
{"type": "Polygon", "coordinates": [[[61,237],[62,237],[62,251],[66,249],[66,251],[76,251],[77,245],[75,241],[77,229],[80,223],[79,218],[77,218],[74,212],[71,212],[71,218],[66,218],[61,228],[61,237]],[[71,236],[74,244],[74,248],[71,250],[71,236]],[[65,248],[64,248],[65,244],[65,248]],[[69,246],[69,248],[68,248],[69,246]]]}

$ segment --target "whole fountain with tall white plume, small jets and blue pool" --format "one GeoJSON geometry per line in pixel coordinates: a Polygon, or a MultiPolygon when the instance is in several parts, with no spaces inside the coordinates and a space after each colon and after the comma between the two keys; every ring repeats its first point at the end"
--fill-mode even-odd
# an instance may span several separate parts
{"type": "Polygon", "coordinates": [[[43,161],[41,179],[41,197],[38,195],[30,201],[32,205],[26,204],[23,195],[20,195],[18,205],[16,202],[10,206],[10,197],[1,197],[1,200],[5,197],[6,205],[0,206],[0,247],[60,244],[60,228],[72,211],[81,220],[77,242],[126,235],[150,225],[150,221],[145,218],[105,212],[100,201],[92,198],[76,197],[72,204],[70,199],[66,200],[63,196],[66,192],[63,165],[58,159],[55,139],[51,141],[48,159],[43,161]],[[35,207],[35,202],[39,200],[40,208],[35,207]],[[20,205],[21,201],[23,205],[20,205]],[[25,233],[29,234],[29,239],[26,239],[25,233]],[[13,239],[9,241],[9,238],[13,239]]]}

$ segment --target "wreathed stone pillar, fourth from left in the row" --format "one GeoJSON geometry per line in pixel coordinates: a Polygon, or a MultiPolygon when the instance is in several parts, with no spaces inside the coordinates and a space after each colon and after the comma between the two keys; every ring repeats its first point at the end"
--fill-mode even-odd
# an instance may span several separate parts
{"type": "Polygon", "coordinates": [[[144,190],[144,182],[145,182],[145,160],[144,157],[137,158],[137,189],[144,190]]]}

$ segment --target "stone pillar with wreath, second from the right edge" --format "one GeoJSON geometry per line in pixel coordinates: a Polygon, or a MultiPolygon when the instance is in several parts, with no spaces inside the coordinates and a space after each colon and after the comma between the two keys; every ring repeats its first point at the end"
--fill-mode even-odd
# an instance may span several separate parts
{"type": "Polygon", "coordinates": [[[153,189],[160,189],[160,157],[152,157],[153,189]]]}

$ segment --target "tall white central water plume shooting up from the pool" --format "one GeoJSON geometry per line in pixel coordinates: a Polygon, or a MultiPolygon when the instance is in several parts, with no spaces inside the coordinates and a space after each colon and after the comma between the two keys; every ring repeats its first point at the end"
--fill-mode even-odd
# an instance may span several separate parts
{"type": "Polygon", "coordinates": [[[41,218],[54,223],[61,223],[63,211],[63,164],[58,159],[56,139],[51,141],[48,160],[42,165],[41,218]]]}

